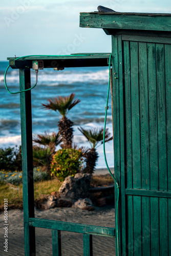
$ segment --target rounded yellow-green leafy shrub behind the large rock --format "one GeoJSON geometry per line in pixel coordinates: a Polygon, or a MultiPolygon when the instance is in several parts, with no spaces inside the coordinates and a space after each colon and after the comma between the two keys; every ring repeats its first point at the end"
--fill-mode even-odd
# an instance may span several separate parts
{"type": "Polygon", "coordinates": [[[68,176],[75,176],[79,172],[83,163],[81,150],[74,148],[62,148],[53,156],[51,163],[51,172],[61,182],[68,176]]]}

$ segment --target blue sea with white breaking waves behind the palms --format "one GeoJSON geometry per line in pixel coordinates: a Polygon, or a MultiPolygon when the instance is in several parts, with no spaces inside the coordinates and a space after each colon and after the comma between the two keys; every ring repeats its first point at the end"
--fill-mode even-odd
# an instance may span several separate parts
{"type": "MultiPolygon", "coordinates": [[[[19,94],[11,95],[4,85],[4,72],[7,61],[0,61],[0,147],[20,145],[20,102],[19,94]]],[[[41,103],[58,96],[75,94],[80,103],[67,114],[74,122],[74,143],[90,147],[87,139],[78,127],[94,129],[103,127],[106,95],[108,91],[108,67],[66,68],[63,71],[53,69],[39,70],[37,86],[32,90],[32,129],[33,135],[45,131],[58,132],[57,123],[61,115],[55,111],[45,110],[41,103]]],[[[35,83],[35,72],[31,70],[31,86],[35,83]]],[[[9,69],[7,84],[12,92],[19,91],[19,71],[9,69]]],[[[111,97],[106,128],[112,133],[111,97]]],[[[109,166],[113,166],[113,140],[105,143],[109,166]]],[[[99,158],[97,168],[105,167],[102,144],[97,148],[99,158]]]]}

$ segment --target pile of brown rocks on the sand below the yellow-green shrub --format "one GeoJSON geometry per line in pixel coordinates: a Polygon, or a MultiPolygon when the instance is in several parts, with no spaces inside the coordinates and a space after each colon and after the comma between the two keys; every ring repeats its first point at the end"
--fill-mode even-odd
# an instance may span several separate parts
{"type": "MultiPolygon", "coordinates": [[[[41,209],[54,207],[74,207],[94,210],[95,206],[114,203],[114,184],[108,187],[90,187],[91,175],[78,173],[68,176],[59,191],[54,191],[45,200],[41,200],[41,209]]],[[[37,205],[36,205],[37,206],[37,205]]]]}

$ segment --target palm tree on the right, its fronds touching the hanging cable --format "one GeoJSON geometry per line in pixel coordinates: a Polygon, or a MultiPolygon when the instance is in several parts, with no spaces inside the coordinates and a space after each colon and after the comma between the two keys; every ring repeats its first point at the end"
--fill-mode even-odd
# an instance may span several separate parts
{"type": "MultiPolygon", "coordinates": [[[[84,173],[89,173],[92,174],[94,172],[94,168],[97,163],[98,159],[98,153],[96,151],[96,148],[98,144],[103,143],[103,132],[104,129],[100,128],[98,129],[83,129],[82,127],[78,128],[78,130],[88,139],[90,142],[91,148],[89,151],[86,152],[86,168],[84,168],[83,172],[84,173]]],[[[113,139],[113,136],[110,137],[111,134],[108,132],[108,129],[105,130],[105,140],[104,142],[110,141],[113,139]]]]}

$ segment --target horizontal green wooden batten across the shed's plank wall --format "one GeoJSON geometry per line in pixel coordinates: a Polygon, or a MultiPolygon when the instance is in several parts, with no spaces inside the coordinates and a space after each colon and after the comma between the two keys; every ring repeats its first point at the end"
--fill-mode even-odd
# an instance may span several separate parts
{"type": "Polygon", "coordinates": [[[125,189],[126,195],[145,196],[145,197],[162,197],[171,198],[171,191],[159,191],[159,190],[148,190],[148,189],[125,189]]]}

